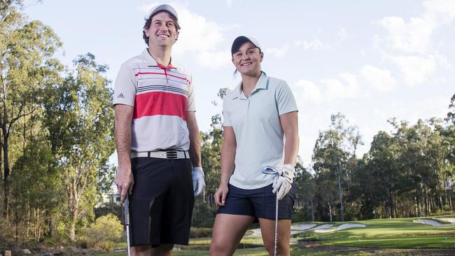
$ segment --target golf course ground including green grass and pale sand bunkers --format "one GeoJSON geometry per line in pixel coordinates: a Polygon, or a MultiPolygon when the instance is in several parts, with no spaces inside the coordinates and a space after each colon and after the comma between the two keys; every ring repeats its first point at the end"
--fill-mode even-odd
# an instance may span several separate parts
{"type": "MultiPolygon", "coordinates": [[[[291,255],[455,255],[455,215],[302,222],[291,229],[291,255]]],[[[210,241],[191,239],[173,255],[209,255],[210,241]]],[[[120,243],[116,251],[103,255],[123,255],[125,246],[120,243]]],[[[268,255],[258,229],[248,230],[235,255],[268,255]]]]}

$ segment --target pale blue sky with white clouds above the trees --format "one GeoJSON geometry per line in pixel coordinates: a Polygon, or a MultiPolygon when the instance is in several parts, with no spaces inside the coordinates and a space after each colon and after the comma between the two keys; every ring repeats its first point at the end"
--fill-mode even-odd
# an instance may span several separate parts
{"type": "Polygon", "coordinates": [[[262,71],[286,80],[293,91],[304,166],[331,114],[344,113],[358,127],[361,157],[378,131],[392,130],[388,119],[415,123],[449,111],[455,93],[453,0],[26,0],[23,13],[55,31],[64,64],[91,52],[109,66],[106,77],[114,81],[120,65],[146,48],[144,17],[161,3],[179,14],[172,57],[193,73],[201,131],[209,131],[211,116],[221,113],[218,90],[239,83],[230,47],[240,35],[259,41],[262,71]]]}

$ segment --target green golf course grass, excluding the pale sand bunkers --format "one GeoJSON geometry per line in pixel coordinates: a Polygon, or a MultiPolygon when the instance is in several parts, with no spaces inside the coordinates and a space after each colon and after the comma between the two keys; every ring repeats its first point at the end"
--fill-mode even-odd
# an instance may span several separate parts
{"type": "MultiPolygon", "coordinates": [[[[451,217],[455,215],[432,216],[451,217]]],[[[413,220],[421,218],[399,218],[399,219],[375,219],[353,221],[351,223],[365,224],[365,228],[344,229],[330,233],[315,233],[314,231],[304,232],[294,239],[300,241],[318,241],[317,246],[305,248],[303,246],[291,246],[291,255],[349,255],[366,256],[375,255],[376,252],[368,248],[381,248],[393,255],[400,254],[403,248],[409,250],[419,249],[455,249],[455,227],[433,227],[414,223],[413,220]],[[350,249],[352,248],[352,249],[350,249]],[[364,248],[364,249],[362,249],[364,248]]],[[[431,218],[428,218],[431,219],[431,218]]],[[[314,222],[318,225],[332,224],[332,229],[346,222],[314,222]]],[[[190,246],[182,247],[172,253],[176,256],[209,255],[208,247],[211,238],[190,239],[190,246]]],[[[242,239],[241,244],[247,246],[261,245],[261,238],[242,239]]],[[[314,243],[314,242],[313,242],[314,243]]],[[[119,244],[119,248],[125,248],[126,244],[119,244]]],[[[125,255],[125,252],[106,253],[107,255],[125,255]]],[[[234,255],[238,256],[262,256],[268,255],[263,246],[257,248],[237,249],[234,255]]]]}

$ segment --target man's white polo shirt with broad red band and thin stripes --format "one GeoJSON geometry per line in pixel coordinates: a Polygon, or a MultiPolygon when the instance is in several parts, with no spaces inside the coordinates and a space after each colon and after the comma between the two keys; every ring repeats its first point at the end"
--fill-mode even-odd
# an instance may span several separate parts
{"type": "Polygon", "coordinates": [[[158,64],[146,49],[120,67],[113,104],[134,106],[132,150],[190,148],[186,112],[196,111],[192,77],[173,65],[158,64]]]}

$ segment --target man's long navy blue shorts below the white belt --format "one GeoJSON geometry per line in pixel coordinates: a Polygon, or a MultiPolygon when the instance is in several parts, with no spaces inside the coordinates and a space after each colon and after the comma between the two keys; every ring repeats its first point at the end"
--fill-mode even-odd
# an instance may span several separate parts
{"type": "Polygon", "coordinates": [[[131,164],[131,245],[188,245],[195,199],[190,159],[136,157],[131,164]]]}

